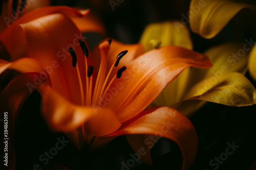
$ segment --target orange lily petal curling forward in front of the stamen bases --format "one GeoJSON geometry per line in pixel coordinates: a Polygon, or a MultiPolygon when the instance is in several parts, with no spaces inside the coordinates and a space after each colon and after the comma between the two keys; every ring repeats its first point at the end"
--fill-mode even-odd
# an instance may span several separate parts
{"type": "Polygon", "coordinates": [[[111,109],[74,105],[50,87],[46,88],[42,98],[42,113],[55,131],[70,132],[84,124],[84,135],[103,136],[121,126],[111,109]]]}

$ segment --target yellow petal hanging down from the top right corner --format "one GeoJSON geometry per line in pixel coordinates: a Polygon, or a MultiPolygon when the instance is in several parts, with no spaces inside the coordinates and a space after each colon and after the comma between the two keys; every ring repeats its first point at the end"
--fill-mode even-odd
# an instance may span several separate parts
{"type": "Polygon", "coordinates": [[[256,11],[256,6],[234,1],[192,0],[189,17],[183,17],[184,20],[189,18],[189,25],[193,32],[200,34],[204,38],[212,38],[242,9],[256,11]]]}

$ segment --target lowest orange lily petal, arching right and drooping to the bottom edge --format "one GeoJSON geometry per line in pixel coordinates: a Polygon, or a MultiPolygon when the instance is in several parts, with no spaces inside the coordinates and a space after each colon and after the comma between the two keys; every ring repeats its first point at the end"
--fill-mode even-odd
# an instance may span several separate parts
{"type": "Polygon", "coordinates": [[[150,154],[149,151],[157,139],[166,137],[175,141],[180,147],[183,156],[182,169],[188,169],[196,158],[198,148],[197,132],[191,122],[174,109],[168,107],[147,109],[125,122],[120,130],[108,136],[132,134],[151,135],[151,138],[137,138],[143,140],[138,142],[143,143],[139,149],[136,144],[132,146],[136,149],[135,153],[138,153],[140,157],[150,154]]]}

